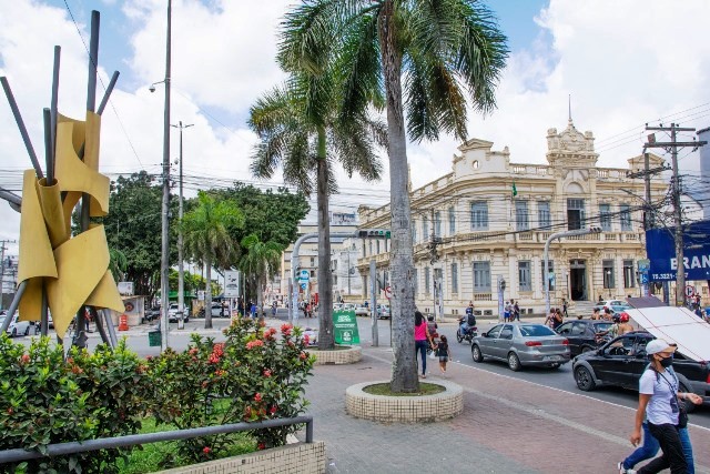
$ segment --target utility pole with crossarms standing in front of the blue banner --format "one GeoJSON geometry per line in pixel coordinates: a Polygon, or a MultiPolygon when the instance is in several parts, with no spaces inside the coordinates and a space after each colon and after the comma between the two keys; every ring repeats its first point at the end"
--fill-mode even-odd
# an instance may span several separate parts
{"type": "Polygon", "coordinates": [[[683,306],[686,304],[686,264],[683,260],[683,229],[682,229],[682,208],[680,205],[680,177],[678,175],[678,149],[684,147],[692,147],[693,151],[698,149],[698,147],[702,147],[707,144],[706,141],[697,141],[693,138],[691,142],[679,142],[678,132],[694,132],[696,129],[692,128],[681,128],[678,127],[678,123],[671,123],[670,127],[663,127],[661,123],[660,127],[648,127],[646,125],[647,131],[662,131],[670,132],[670,142],[657,142],[656,135],[651,133],[648,135],[649,142],[643,145],[643,148],[663,148],[670,151],[671,160],[672,160],[672,172],[673,177],[671,180],[672,188],[672,201],[673,201],[673,221],[676,230],[673,232],[673,240],[676,243],[676,306],[683,306]]]}

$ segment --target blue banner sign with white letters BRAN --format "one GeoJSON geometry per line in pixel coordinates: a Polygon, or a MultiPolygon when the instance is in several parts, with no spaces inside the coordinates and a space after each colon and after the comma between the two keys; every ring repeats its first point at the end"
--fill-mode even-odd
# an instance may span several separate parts
{"type": "MultiPolygon", "coordinates": [[[[650,260],[648,279],[673,281],[680,266],[676,259],[673,228],[646,231],[646,252],[650,260]]],[[[710,280],[710,221],[683,226],[683,266],[686,280],[710,280]]]]}

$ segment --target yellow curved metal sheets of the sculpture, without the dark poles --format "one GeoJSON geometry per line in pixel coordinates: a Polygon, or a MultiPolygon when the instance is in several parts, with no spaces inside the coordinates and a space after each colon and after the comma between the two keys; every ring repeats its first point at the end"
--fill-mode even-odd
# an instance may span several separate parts
{"type": "Polygon", "coordinates": [[[91,216],[109,212],[109,184],[99,173],[101,118],[87,121],[60,115],[57,125],[57,179],[48,185],[34,170],[24,172],[20,221],[18,282],[28,282],[20,317],[39,321],[42,289],[60,337],[83,305],[123,312],[123,301],[109,272],[103,225],[71,235],[71,212],[82,194],[91,198],[91,216]],[[83,150],[83,161],[79,158],[83,150]],[[63,201],[62,201],[63,195],[63,201]]]}

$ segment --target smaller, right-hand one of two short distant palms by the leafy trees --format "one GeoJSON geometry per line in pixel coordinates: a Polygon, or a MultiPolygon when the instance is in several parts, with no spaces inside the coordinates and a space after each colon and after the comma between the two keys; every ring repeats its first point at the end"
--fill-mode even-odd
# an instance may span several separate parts
{"type": "Polygon", "coordinates": [[[278,273],[281,254],[284,248],[274,241],[262,242],[256,234],[250,234],[242,240],[245,253],[240,260],[240,270],[246,278],[251,278],[256,286],[256,307],[260,316],[264,315],[264,286],[270,279],[278,273]]]}

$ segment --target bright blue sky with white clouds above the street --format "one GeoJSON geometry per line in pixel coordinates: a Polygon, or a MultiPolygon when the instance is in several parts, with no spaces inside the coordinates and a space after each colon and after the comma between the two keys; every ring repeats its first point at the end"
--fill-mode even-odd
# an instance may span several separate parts
{"type": "MultiPolygon", "coordinates": [[[[187,195],[233,181],[257,185],[248,172],[256,142],[248,108],[285,74],[274,61],[278,24],[295,0],[173,0],[171,123],[183,132],[187,195]]],[[[510,160],[546,163],[546,134],[567,125],[592,131],[598,165],[626,168],[641,152],[645,123],[710,125],[710,2],[687,0],[487,0],[508,37],[510,56],[497,89],[497,109],[469,115],[468,137],[508,147],[510,160]]],[[[121,75],[102,118],[101,171],[160,173],[165,77],[166,0],[0,0],[0,75],[7,75],[37,154],[43,157],[42,108],[49,107],[52,58],[61,46],[59,110],[85,110],[91,9],[101,12],[98,97],[113,71],[121,75]]],[[[692,134],[681,137],[691,139],[692,134]]],[[[415,188],[450,171],[460,143],[442,137],[410,143],[415,188]]],[[[662,154],[662,153],[660,153],[662,154]]],[[[179,130],[171,129],[171,159],[179,130]]],[[[385,170],[386,157],[383,155],[385,170]]],[[[0,186],[20,192],[30,168],[20,133],[0,97],[0,186]]],[[[679,168],[698,181],[698,153],[684,149],[679,168]]],[[[173,168],[176,172],[176,167],[173,168]]],[[[388,202],[379,183],[338,174],[332,210],[388,202]]],[[[0,240],[17,240],[19,214],[0,202],[0,240]]],[[[12,244],[9,245],[12,253],[12,244]]]]}

